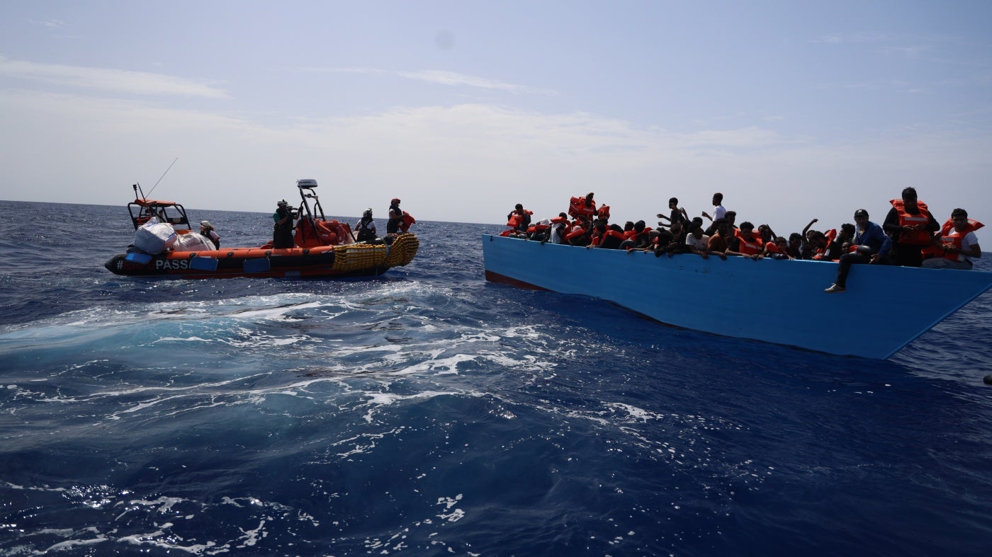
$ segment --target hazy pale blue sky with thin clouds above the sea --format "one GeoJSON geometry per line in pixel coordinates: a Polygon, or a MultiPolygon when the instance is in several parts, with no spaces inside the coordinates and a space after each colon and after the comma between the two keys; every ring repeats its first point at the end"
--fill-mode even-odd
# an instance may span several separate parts
{"type": "Polygon", "coordinates": [[[24,201],[268,212],[314,178],[329,215],[592,191],[651,225],[720,191],[788,235],[914,186],[990,222],[992,2],[9,0],[0,167],[24,201]]]}

